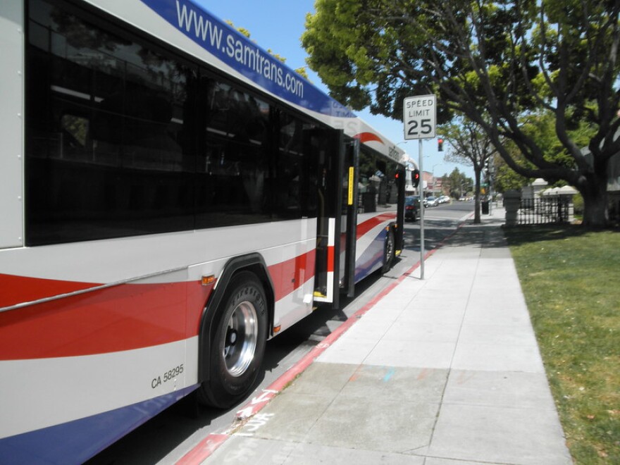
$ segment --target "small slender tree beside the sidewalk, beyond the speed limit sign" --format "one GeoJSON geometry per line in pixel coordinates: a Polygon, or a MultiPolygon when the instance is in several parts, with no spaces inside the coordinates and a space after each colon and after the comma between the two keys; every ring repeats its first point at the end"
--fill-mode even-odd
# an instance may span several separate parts
{"type": "Polygon", "coordinates": [[[450,141],[452,147],[447,151],[444,159],[473,167],[475,180],[473,223],[480,223],[481,174],[492,154],[495,153],[495,148],[480,126],[466,118],[457,118],[452,123],[443,125],[442,134],[450,141]]]}

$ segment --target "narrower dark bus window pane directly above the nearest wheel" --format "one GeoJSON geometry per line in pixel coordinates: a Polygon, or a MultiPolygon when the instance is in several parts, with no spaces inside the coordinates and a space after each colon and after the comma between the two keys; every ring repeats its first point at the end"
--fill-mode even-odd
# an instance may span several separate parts
{"type": "Polygon", "coordinates": [[[196,228],[270,221],[269,105],[224,82],[206,82],[196,228]]]}

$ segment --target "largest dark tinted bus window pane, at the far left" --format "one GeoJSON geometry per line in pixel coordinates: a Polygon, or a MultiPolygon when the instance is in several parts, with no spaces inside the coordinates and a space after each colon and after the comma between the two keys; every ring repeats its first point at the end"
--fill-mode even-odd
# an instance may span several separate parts
{"type": "Polygon", "coordinates": [[[196,70],[44,1],[28,31],[27,243],[193,228],[196,70]]]}

